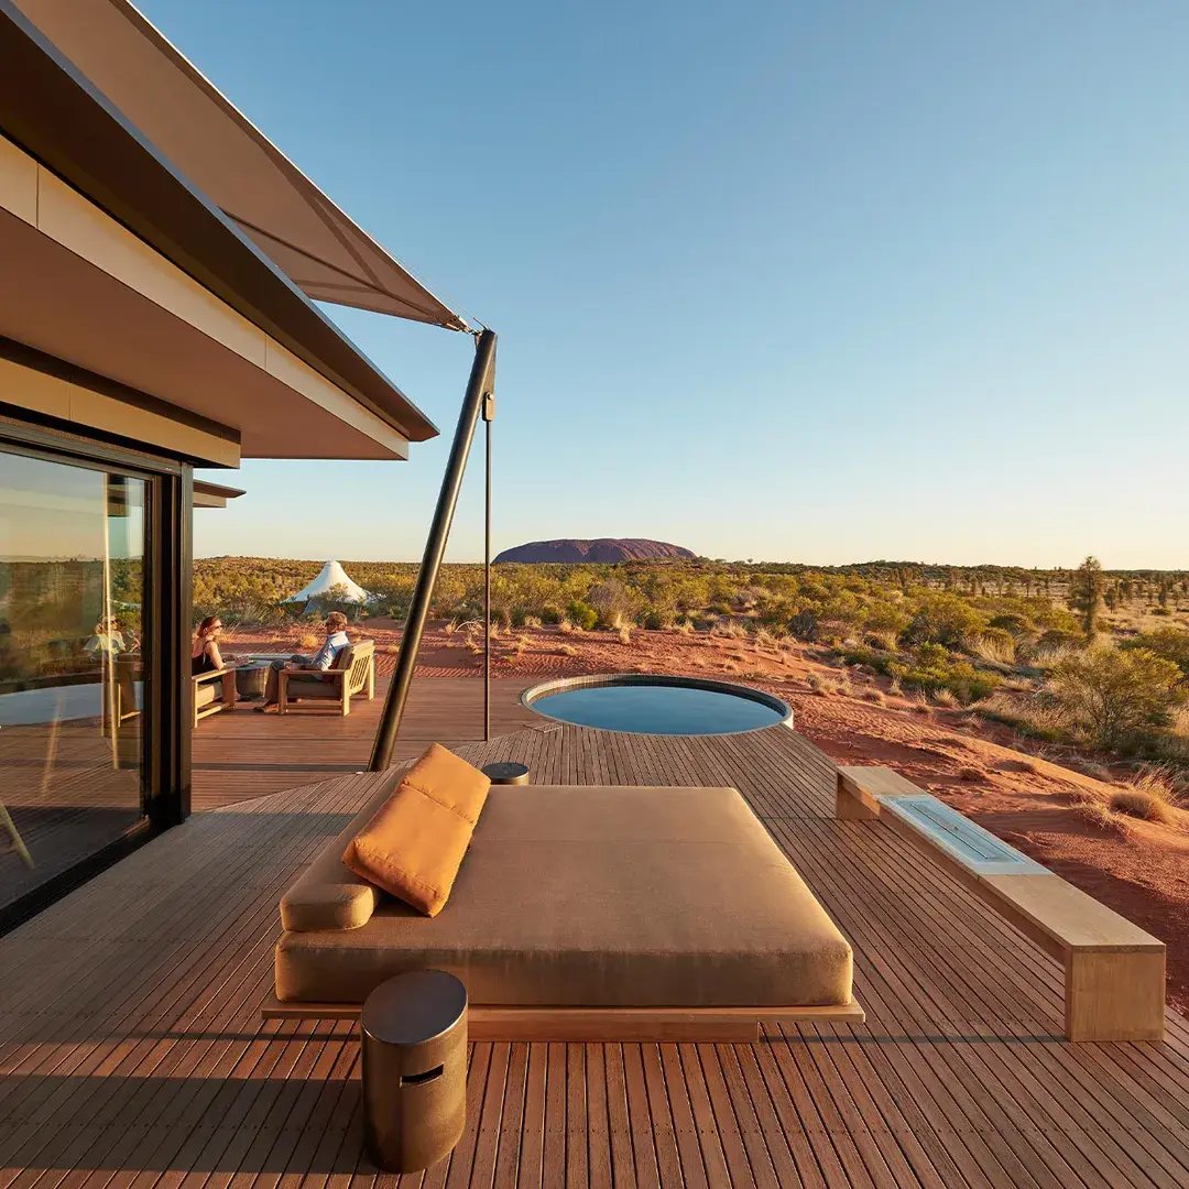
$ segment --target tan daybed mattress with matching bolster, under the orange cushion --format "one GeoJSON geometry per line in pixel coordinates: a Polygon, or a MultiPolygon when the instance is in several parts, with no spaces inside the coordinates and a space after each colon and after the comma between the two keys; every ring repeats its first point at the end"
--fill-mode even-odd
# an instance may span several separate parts
{"type": "Polygon", "coordinates": [[[850,1000],[849,944],[734,788],[495,786],[433,919],[338,860],[383,795],[282,904],[282,1001],[361,1002],[427,967],[483,1005],[850,1000]]]}

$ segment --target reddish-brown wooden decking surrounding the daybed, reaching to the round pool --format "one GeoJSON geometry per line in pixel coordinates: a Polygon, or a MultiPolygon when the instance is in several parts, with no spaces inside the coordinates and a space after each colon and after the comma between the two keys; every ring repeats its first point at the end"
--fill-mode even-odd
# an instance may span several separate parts
{"type": "MultiPolygon", "coordinates": [[[[259,717],[259,716],[257,716],[259,717]]],[[[1189,1030],[1069,1045],[1061,974],[784,728],[548,728],[466,749],[541,781],[735,784],[856,951],[863,1027],[759,1045],[477,1044],[426,1185],[1183,1185],[1189,1030]]],[[[0,939],[0,1187],[371,1183],[345,1025],[263,1024],[276,901],[372,778],[202,813],[0,939]]],[[[390,1183],[390,1181],[385,1181],[390,1183]]]]}

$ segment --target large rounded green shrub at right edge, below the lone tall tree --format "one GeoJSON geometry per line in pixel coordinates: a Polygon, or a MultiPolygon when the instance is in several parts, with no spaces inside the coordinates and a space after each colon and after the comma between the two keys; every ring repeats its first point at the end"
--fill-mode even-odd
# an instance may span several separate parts
{"type": "Polygon", "coordinates": [[[1146,648],[1103,646],[1067,655],[1046,691],[1075,730],[1093,743],[1119,747],[1168,725],[1184,702],[1181,675],[1172,661],[1146,648]]]}

